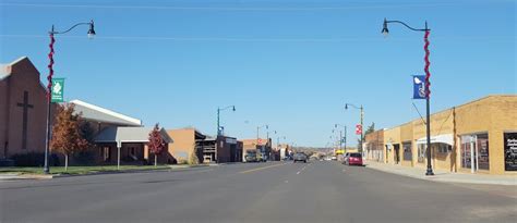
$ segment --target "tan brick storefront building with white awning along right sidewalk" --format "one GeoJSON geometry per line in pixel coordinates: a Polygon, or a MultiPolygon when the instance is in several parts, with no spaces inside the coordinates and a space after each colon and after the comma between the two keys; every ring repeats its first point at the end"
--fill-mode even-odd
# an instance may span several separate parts
{"type": "MultiPolygon", "coordinates": [[[[517,96],[488,96],[431,115],[433,169],[517,173],[517,96]]],[[[423,120],[385,129],[385,163],[424,169],[423,120]]],[[[368,139],[366,139],[368,140],[368,139]]]]}

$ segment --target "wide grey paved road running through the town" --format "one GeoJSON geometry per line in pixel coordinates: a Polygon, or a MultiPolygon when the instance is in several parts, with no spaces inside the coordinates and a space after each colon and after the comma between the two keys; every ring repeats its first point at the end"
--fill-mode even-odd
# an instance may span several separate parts
{"type": "Polygon", "coordinates": [[[515,222],[516,187],[337,162],[0,182],[1,222],[515,222]]]}

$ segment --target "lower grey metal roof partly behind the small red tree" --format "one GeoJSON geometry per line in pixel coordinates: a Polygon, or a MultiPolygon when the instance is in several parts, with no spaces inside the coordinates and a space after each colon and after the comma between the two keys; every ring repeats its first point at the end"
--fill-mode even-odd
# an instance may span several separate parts
{"type": "MultiPolygon", "coordinates": [[[[152,131],[153,127],[110,126],[97,134],[94,140],[95,143],[147,143],[152,131]]],[[[167,144],[173,141],[164,128],[160,133],[167,144]]]]}

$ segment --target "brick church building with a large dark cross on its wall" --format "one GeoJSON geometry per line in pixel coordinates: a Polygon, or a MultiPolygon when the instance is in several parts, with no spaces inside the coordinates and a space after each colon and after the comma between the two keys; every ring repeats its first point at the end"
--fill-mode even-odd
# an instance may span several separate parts
{"type": "Polygon", "coordinates": [[[0,66],[0,159],[45,151],[46,95],[28,58],[0,66]]]}

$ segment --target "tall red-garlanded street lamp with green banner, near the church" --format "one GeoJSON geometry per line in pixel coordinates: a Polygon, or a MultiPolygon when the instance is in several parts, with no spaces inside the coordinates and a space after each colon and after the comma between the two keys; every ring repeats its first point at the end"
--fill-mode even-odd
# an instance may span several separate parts
{"type": "Polygon", "coordinates": [[[95,36],[95,29],[94,29],[94,21],[92,20],[89,23],[77,23],[70,27],[69,29],[64,32],[57,32],[52,25],[52,28],[50,32],[48,32],[48,35],[50,37],[50,52],[48,53],[48,59],[49,59],[49,64],[48,64],[48,85],[47,85],[47,137],[45,138],[45,164],[44,164],[44,173],[49,174],[50,173],[50,168],[48,166],[48,156],[50,153],[50,104],[52,103],[51,101],[51,90],[52,90],[52,76],[53,76],[53,45],[56,44],[56,39],[53,38],[55,35],[60,35],[60,34],[65,34],[69,33],[70,30],[74,29],[75,27],[80,25],[87,25],[89,26],[88,29],[88,38],[92,39],[95,36]]]}

